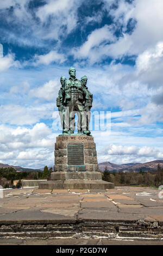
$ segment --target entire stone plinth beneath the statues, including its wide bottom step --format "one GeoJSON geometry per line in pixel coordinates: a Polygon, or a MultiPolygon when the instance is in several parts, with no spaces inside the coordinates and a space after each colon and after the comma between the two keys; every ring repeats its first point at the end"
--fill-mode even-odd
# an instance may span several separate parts
{"type": "Polygon", "coordinates": [[[51,180],[39,184],[49,189],[106,189],[114,184],[102,180],[98,168],[96,144],[92,136],[58,136],[51,180]]]}

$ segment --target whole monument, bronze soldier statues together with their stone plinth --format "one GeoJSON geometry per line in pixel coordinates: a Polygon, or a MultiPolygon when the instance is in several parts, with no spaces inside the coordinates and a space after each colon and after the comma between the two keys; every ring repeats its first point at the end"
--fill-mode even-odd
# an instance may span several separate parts
{"type": "Polygon", "coordinates": [[[86,86],[87,77],[76,78],[76,69],[69,69],[70,78],[61,76],[57,97],[62,134],[56,138],[54,172],[51,180],[41,182],[39,188],[95,189],[114,188],[102,180],[98,168],[96,144],[89,130],[93,95],[86,86]],[[74,133],[75,115],[78,115],[74,133]]]}

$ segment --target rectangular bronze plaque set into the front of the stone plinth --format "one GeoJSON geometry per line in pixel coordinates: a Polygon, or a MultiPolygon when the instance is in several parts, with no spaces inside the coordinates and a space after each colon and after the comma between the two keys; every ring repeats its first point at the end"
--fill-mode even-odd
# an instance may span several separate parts
{"type": "Polygon", "coordinates": [[[84,164],[84,145],[83,144],[68,144],[67,145],[67,163],[69,165],[84,164]]]}

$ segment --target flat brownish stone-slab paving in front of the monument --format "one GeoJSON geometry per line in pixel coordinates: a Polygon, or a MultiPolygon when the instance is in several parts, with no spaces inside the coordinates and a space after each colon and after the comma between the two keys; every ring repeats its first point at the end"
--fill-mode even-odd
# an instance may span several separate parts
{"type": "MultiPolygon", "coordinates": [[[[0,199],[0,222],[2,224],[4,221],[12,220],[109,220],[148,221],[163,225],[163,199],[159,198],[159,192],[158,189],[149,187],[115,187],[105,191],[37,188],[5,190],[4,198],[0,199]]],[[[36,244],[35,239],[1,239],[0,243],[15,244],[14,241],[16,244],[36,244]]],[[[54,239],[39,241],[41,244],[59,242],[54,239]]],[[[78,239],[75,241],[77,243],[78,239]]],[[[67,240],[64,239],[62,242],[66,244],[67,240]]],[[[111,243],[111,240],[99,239],[80,239],[77,244],[94,245],[107,242],[116,244],[116,241],[111,243]]],[[[163,245],[163,241],[158,241],[158,244],[159,242],[163,245]]]]}

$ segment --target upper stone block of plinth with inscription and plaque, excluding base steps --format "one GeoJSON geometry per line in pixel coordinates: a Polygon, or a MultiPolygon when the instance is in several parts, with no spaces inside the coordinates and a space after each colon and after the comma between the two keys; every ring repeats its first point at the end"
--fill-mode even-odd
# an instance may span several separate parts
{"type": "Polygon", "coordinates": [[[54,154],[54,172],[99,172],[96,144],[91,136],[58,136],[54,154]]]}

